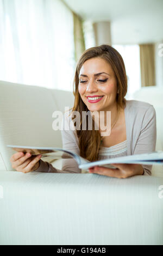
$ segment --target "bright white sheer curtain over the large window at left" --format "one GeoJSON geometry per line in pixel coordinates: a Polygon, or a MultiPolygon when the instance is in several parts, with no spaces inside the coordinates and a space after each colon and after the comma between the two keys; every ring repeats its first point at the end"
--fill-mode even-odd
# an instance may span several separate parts
{"type": "Polygon", "coordinates": [[[73,13],[60,0],[0,0],[0,80],[72,90],[73,13]]]}

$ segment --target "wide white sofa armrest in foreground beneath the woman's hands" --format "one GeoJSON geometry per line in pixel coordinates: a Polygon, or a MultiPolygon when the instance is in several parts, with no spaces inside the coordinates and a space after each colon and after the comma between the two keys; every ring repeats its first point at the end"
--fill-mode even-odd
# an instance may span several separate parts
{"type": "Polygon", "coordinates": [[[0,172],[2,245],[162,245],[163,178],[0,172]]]}

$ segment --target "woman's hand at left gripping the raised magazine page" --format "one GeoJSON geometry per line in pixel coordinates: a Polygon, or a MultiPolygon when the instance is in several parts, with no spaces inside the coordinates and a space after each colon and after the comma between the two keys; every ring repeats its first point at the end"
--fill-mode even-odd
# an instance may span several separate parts
{"type": "Polygon", "coordinates": [[[11,156],[12,168],[22,173],[29,173],[39,168],[41,155],[32,156],[30,153],[15,153],[11,156]]]}

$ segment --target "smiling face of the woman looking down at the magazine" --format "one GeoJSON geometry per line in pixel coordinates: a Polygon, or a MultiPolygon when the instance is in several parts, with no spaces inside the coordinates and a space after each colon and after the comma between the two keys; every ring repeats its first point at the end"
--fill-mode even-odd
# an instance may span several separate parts
{"type": "Polygon", "coordinates": [[[79,73],[79,94],[89,111],[109,111],[116,105],[117,81],[102,58],[86,60],[79,73]]]}

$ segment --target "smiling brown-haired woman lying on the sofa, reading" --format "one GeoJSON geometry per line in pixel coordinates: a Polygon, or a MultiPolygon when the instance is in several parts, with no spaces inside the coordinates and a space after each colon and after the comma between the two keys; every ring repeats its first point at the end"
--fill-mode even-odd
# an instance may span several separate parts
{"type": "MultiPolygon", "coordinates": [[[[74,151],[89,161],[142,154],[155,151],[156,115],[149,103],[127,101],[127,76],[123,59],[114,48],[101,45],[86,50],[80,57],[74,78],[75,101],[72,109],[80,113],[82,127],[83,111],[111,112],[111,133],[101,136],[101,130],[64,130],[64,149],[74,151]]],[[[68,121],[67,116],[65,122],[68,121]]],[[[105,118],[106,123],[106,118],[105,118]]],[[[107,124],[109,125],[109,124],[107,124]]],[[[11,156],[12,167],[20,172],[69,172],[80,173],[74,160],[64,160],[62,170],[29,153],[11,156]]],[[[151,175],[152,166],[140,164],[113,164],[116,169],[94,167],[90,173],[127,178],[134,175],[151,175]]]]}

